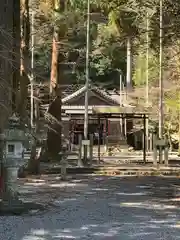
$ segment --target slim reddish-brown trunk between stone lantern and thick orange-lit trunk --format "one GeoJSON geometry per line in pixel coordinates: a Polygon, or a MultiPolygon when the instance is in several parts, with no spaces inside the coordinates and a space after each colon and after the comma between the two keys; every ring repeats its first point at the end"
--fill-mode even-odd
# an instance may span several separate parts
{"type": "MultiPolygon", "coordinates": [[[[34,4],[34,1],[31,2],[34,4]]],[[[21,25],[22,25],[22,33],[21,33],[21,78],[20,78],[20,102],[19,102],[19,112],[21,116],[21,122],[27,122],[29,120],[27,118],[27,104],[28,104],[28,84],[29,77],[28,74],[31,74],[30,69],[30,60],[29,60],[29,48],[30,48],[30,11],[29,11],[29,0],[23,0],[22,3],[22,11],[21,11],[21,25]]],[[[34,102],[36,102],[34,100],[34,102]]],[[[35,119],[35,123],[37,126],[37,118],[35,119]]],[[[34,142],[31,149],[31,156],[28,162],[28,172],[30,174],[38,174],[39,173],[39,165],[36,159],[36,145],[37,145],[37,136],[36,130],[31,129],[33,131],[34,142]]]]}

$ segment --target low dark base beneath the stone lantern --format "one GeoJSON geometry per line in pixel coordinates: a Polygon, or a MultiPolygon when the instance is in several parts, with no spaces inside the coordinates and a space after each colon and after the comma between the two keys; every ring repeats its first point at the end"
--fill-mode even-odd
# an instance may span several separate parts
{"type": "Polygon", "coordinates": [[[21,215],[32,210],[44,210],[44,206],[21,200],[0,201],[0,215],[21,215]]]}

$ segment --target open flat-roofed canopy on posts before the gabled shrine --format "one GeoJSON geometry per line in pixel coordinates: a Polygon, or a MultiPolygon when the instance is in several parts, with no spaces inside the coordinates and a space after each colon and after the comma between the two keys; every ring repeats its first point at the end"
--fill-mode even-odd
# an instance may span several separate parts
{"type": "MultiPolygon", "coordinates": [[[[142,156],[138,155],[139,163],[146,163],[146,119],[148,118],[147,113],[135,113],[127,108],[120,107],[94,107],[92,108],[91,114],[89,114],[88,121],[88,139],[92,139],[93,136],[93,157],[97,159],[98,162],[104,159],[107,155],[109,148],[117,149],[119,159],[130,159],[136,158],[133,156],[133,152],[128,153],[129,145],[127,143],[127,130],[128,128],[133,128],[132,121],[133,119],[142,119],[142,137],[143,142],[142,146],[142,156]],[[120,126],[121,125],[121,126],[120,126]],[[123,128],[118,130],[118,128],[123,128]],[[90,136],[91,135],[91,136],[90,136]],[[127,154],[124,156],[124,153],[121,151],[124,147],[127,149],[127,154]]],[[[70,121],[70,131],[69,139],[70,143],[73,143],[78,147],[79,145],[79,136],[83,140],[84,136],[84,115],[80,114],[71,114],[69,115],[70,121]]],[[[76,149],[76,148],[75,148],[76,149]]],[[[111,155],[111,157],[117,157],[111,155]]]]}

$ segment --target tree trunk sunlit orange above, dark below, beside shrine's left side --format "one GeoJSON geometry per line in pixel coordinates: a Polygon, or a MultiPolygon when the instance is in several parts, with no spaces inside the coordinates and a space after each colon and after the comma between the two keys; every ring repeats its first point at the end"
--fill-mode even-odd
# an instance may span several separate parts
{"type": "MultiPolygon", "coordinates": [[[[58,17],[58,14],[62,14],[64,10],[65,1],[55,0],[55,18],[58,17]]],[[[57,155],[58,152],[61,151],[61,80],[63,78],[63,62],[65,60],[61,40],[65,37],[65,34],[66,30],[64,27],[59,25],[55,26],[52,45],[50,94],[56,97],[56,99],[50,104],[49,114],[52,118],[49,122],[47,135],[48,152],[52,156],[57,155]]]]}

